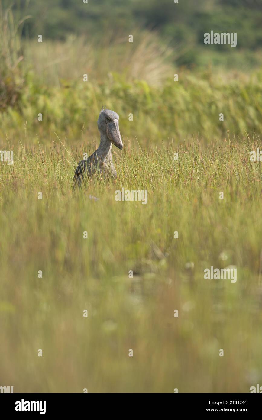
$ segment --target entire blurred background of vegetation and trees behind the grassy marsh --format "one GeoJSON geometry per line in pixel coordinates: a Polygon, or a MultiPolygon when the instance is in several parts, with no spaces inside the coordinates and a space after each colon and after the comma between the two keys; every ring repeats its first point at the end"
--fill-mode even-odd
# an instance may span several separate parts
{"type": "Polygon", "coordinates": [[[96,141],[103,105],[121,116],[124,136],[143,144],[223,139],[228,129],[241,140],[262,130],[257,1],[1,4],[0,135],[14,143],[25,123],[35,144],[35,130],[42,141],[53,131],[96,141]],[[211,30],[236,32],[237,46],[205,45],[211,30]]]}

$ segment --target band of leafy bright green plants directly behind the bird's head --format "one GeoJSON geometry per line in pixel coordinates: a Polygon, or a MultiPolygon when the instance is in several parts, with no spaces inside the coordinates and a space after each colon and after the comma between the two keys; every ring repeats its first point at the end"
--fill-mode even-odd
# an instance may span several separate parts
{"type": "Polygon", "coordinates": [[[97,137],[97,118],[106,105],[120,115],[121,133],[130,140],[139,136],[143,144],[183,142],[192,134],[206,142],[221,140],[228,129],[242,141],[245,133],[262,132],[261,80],[260,73],[226,81],[212,73],[181,73],[178,82],[170,75],[157,88],[146,81],[127,83],[115,74],[104,83],[79,80],[55,87],[38,84],[29,74],[16,106],[0,114],[0,136],[17,144],[26,123],[31,144],[38,144],[35,133],[42,142],[55,140],[53,131],[63,139],[67,135],[71,143],[90,143],[97,137]],[[38,121],[39,113],[43,121],[38,121]]]}

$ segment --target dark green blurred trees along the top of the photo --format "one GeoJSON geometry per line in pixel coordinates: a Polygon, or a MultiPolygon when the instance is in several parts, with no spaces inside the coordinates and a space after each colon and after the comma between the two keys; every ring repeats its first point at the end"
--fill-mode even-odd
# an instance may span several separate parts
{"type": "MultiPolygon", "coordinates": [[[[5,2],[4,2],[5,3],[5,2]]],[[[9,3],[9,2],[7,2],[9,3]]],[[[254,66],[262,48],[262,3],[259,0],[42,0],[16,3],[33,16],[23,29],[25,37],[42,34],[65,40],[70,34],[97,39],[114,33],[133,33],[136,28],[159,33],[160,42],[179,48],[174,62],[182,66],[215,65],[254,66]],[[29,4],[28,4],[29,3],[29,4]],[[28,4],[28,5],[27,5],[28,4]],[[237,32],[238,51],[230,46],[203,44],[204,32],[237,32]],[[246,63],[247,62],[247,63],[246,63]]]]}

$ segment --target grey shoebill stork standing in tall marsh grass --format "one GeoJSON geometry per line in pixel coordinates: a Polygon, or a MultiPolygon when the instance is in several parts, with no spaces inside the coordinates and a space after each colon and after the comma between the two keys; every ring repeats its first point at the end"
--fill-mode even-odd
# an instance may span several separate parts
{"type": "Polygon", "coordinates": [[[85,176],[92,178],[94,173],[102,176],[116,178],[116,170],[112,160],[112,144],[123,149],[123,143],[118,126],[119,115],[109,109],[102,109],[97,120],[100,131],[100,145],[98,149],[86,160],[81,160],[76,168],[74,181],[79,186],[85,176]]]}

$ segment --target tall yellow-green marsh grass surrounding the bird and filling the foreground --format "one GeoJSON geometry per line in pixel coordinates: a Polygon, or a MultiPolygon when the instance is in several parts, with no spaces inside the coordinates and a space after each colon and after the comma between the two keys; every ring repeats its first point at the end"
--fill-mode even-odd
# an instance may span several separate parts
{"type": "Polygon", "coordinates": [[[1,383],[249,392],[261,382],[261,163],[249,160],[261,144],[200,144],[126,141],[117,181],[80,190],[72,176],[84,148],[20,145],[13,166],[1,163],[1,383]],[[115,201],[122,186],[147,189],[147,205],[115,201]],[[236,265],[236,283],[204,280],[211,265],[236,265]]]}

